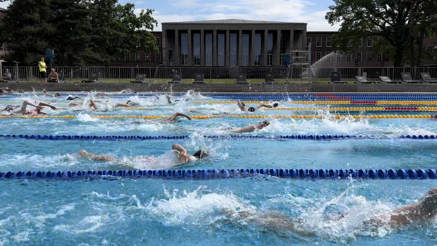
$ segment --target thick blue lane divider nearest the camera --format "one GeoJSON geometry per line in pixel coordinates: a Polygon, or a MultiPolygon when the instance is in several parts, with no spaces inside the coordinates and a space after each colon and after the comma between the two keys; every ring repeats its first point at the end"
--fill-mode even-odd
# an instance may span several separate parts
{"type": "Polygon", "coordinates": [[[244,178],[274,176],[278,178],[318,178],[318,179],[435,179],[434,169],[203,169],[203,170],[118,170],[118,171],[17,171],[0,172],[0,178],[99,178],[105,176],[128,178],[244,178]]]}

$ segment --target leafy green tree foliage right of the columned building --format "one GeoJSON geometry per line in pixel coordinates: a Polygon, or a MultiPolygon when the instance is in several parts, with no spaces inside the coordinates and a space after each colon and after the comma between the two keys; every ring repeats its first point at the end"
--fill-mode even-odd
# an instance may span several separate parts
{"type": "Polygon", "coordinates": [[[417,48],[423,45],[425,34],[433,35],[436,30],[433,0],[334,0],[334,4],[329,6],[326,20],[341,25],[339,33],[333,35],[333,40],[340,41],[338,49],[354,51],[361,39],[366,42],[373,37],[373,48],[393,58],[395,66],[408,60],[410,65],[416,60],[420,63],[422,49],[417,48]],[[380,37],[379,42],[376,37],[380,37]]]}

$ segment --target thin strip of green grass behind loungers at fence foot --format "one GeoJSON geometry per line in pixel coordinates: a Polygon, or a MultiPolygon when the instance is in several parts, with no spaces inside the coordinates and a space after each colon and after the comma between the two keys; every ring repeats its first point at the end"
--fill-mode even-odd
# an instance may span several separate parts
{"type": "MultiPolygon", "coordinates": [[[[82,80],[85,79],[66,79],[68,83],[81,83],[82,80]]],[[[123,83],[123,84],[129,84],[133,79],[101,79],[102,83],[123,83]]],[[[156,84],[166,84],[171,79],[147,79],[147,82],[150,83],[156,83],[156,84]]],[[[191,84],[194,81],[194,79],[182,79],[182,83],[191,84]]],[[[205,79],[206,84],[235,84],[236,79],[205,79]]],[[[327,84],[330,81],[330,79],[312,79],[313,84],[327,84]]],[[[354,79],[343,79],[343,81],[347,82],[348,84],[353,84],[356,80],[354,79]]],[[[377,80],[375,80],[377,81],[377,80]]],[[[38,83],[39,80],[36,79],[29,79],[28,81],[20,81],[28,82],[28,83],[38,83]]],[[[264,79],[247,79],[247,82],[250,84],[262,84],[264,82],[264,79]]],[[[286,79],[276,79],[275,83],[278,84],[285,84],[287,82],[286,79]]],[[[293,79],[291,83],[301,83],[300,79],[293,79]]]]}

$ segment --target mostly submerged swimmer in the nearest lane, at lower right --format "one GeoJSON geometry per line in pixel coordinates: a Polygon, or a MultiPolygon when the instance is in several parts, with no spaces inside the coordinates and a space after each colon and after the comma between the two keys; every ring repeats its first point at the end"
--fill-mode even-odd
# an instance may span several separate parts
{"type": "MultiPolygon", "coordinates": [[[[302,226],[302,222],[296,221],[288,217],[282,212],[271,211],[263,212],[261,214],[253,213],[250,211],[231,211],[225,209],[225,218],[236,218],[238,220],[244,220],[245,222],[252,222],[260,227],[271,229],[273,231],[289,231],[297,233],[301,236],[314,236],[313,232],[308,232],[305,227],[302,226]]],[[[339,215],[329,218],[332,220],[340,220],[345,216],[339,215]]],[[[437,188],[433,188],[427,192],[427,194],[420,199],[420,203],[416,205],[409,205],[402,208],[398,208],[389,214],[390,219],[388,225],[393,229],[398,229],[402,225],[411,225],[415,222],[432,222],[437,215],[437,188]]],[[[349,215],[350,216],[350,215],[349,215]]],[[[385,224],[381,216],[376,215],[374,218],[368,219],[363,222],[364,226],[369,229],[377,230],[385,224]]]]}

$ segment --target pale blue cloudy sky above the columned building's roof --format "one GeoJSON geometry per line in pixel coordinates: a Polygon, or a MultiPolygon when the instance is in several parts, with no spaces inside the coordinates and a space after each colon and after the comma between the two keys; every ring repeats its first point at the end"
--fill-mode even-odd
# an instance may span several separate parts
{"type": "MultiPolygon", "coordinates": [[[[154,9],[159,22],[244,19],[308,23],[308,31],[338,31],[325,20],[332,0],[119,0],[135,3],[136,13],[154,9]]],[[[8,2],[0,3],[6,8],[8,2]]],[[[161,31],[161,25],[153,29],[161,31]]]]}

